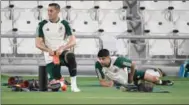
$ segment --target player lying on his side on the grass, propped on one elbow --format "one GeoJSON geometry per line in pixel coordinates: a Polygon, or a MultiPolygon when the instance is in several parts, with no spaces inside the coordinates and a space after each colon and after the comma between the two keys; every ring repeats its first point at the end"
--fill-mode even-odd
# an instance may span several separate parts
{"type": "Polygon", "coordinates": [[[138,80],[149,81],[158,85],[172,85],[169,80],[161,80],[151,73],[135,70],[135,64],[126,57],[110,57],[107,49],[98,52],[95,70],[103,87],[112,87],[114,83],[127,85],[138,80]]]}

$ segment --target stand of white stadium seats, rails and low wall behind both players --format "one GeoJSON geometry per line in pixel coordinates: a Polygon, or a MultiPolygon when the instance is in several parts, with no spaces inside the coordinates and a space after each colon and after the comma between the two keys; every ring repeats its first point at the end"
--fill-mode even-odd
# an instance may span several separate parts
{"type": "MultiPolygon", "coordinates": [[[[74,52],[79,76],[96,76],[99,49],[126,56],[137,69],[159,67],[178,75],[189,58],[189,1],[1,1],[1,72],[38,75],[43,53],[35,47],[38,23],[49,3],[61,6],[61,19],[77,38],[74,52]]],[[[62,67],[62,75],[68,75],[62,67]]]]}

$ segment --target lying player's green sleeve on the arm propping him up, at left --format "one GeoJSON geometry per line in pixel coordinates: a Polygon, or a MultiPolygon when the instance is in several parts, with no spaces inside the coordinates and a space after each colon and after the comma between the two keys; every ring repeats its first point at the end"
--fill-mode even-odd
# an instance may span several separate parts
{"type": "Polygon", "coordinates": [[[102,66],[100,65],[99,62],[95,63],[95,71],[98,79],[105,79],[104,73],[102,72],[102,66]]]}

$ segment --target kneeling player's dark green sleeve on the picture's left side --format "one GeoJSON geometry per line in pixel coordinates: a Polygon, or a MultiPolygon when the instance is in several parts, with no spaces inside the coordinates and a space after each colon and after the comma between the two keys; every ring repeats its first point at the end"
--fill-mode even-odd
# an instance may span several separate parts
{"type": "Polygon", "coordinates": [[[38,24],[38,28],[37,28],[37,35],[38,37],[42,37],[44,38],[44,32],[43,32],[43,26],[47,23],[46,20],[43,20],[41,21],[39,24],[38,24]]]}

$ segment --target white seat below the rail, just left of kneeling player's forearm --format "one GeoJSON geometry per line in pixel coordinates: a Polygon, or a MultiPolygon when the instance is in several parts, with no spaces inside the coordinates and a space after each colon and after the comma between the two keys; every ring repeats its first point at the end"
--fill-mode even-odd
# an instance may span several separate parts
{"type": "Polygon", "coordinates": [[[41,54],[41,50],[35,47],[35,39],[18,38],[18,54],[41,54]],[[29,44],[28,44],[29,43],[29,44]]]}

